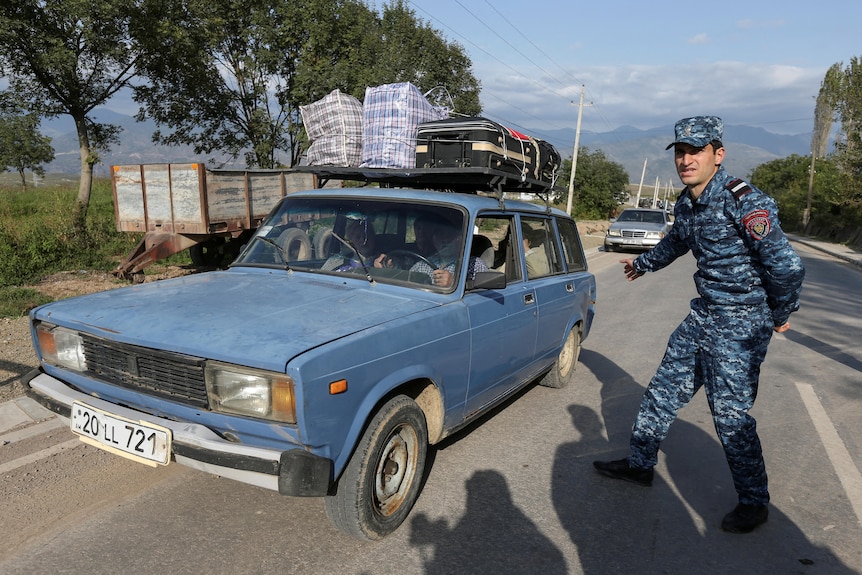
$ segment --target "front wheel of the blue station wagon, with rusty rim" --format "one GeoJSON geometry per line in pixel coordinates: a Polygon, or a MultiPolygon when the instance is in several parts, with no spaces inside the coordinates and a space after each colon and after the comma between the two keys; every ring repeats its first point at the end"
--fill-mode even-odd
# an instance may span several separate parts
{"type": "Polygon", "coordinates": [[[374,415],[336,485],[324,498],[329,520],[357,539],[395,531],[419,497],[428,453],[425,414],[397,396],[374,415]]]}

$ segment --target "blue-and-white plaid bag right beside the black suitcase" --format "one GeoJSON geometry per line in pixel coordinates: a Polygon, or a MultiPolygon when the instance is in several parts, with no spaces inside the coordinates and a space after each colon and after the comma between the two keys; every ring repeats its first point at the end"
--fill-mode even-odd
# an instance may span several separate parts
{"type": "Polygon", "coordinates": [[[419,124],[448,117],[449,110],[431,105],[409,82],[366,88],[361,167],[416,167],[419,124]]]}

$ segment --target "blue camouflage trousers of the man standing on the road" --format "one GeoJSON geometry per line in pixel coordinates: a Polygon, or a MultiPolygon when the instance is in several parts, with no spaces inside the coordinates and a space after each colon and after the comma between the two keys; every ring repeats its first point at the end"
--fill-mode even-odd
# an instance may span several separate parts
{"type": "Polygon", "coordinates": [[[765,505],[766,466],[757,424],[748,412],[772,332],[766,304],[714,306],[692,300],[641,400],[632,428],[631,466],[646,469],[657,463],[677,412],[703,387],[739,502],[765,505]]]}

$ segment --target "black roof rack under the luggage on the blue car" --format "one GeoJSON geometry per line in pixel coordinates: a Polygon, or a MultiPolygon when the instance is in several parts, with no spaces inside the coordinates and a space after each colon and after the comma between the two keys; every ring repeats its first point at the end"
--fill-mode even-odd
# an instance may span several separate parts
{"type": "MultiPolygon", "coordinates": [[[[491,193],[503,201],[508,192],[548,196],[551,182],[522,177],[520,174],[484,167],[470,168],[355,168],[343,166],[295,166],[297,172],[317,176],[318,186],[329,180],[376,183],[385,188],[421,188],[444,192],[491,193]]],[[[549,198],[545,198],[546,202],[549,198]]]]}

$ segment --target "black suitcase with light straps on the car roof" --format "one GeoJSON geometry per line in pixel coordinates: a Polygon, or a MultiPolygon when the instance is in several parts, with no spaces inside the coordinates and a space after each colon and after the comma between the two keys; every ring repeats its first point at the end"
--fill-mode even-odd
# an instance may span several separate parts
{"type": "Polygon", "coordinates": [[[487,118],[451,118],[419,124],[417,168],[492,168],[553,182],[560,155],[531,138],[487,118]]]}

